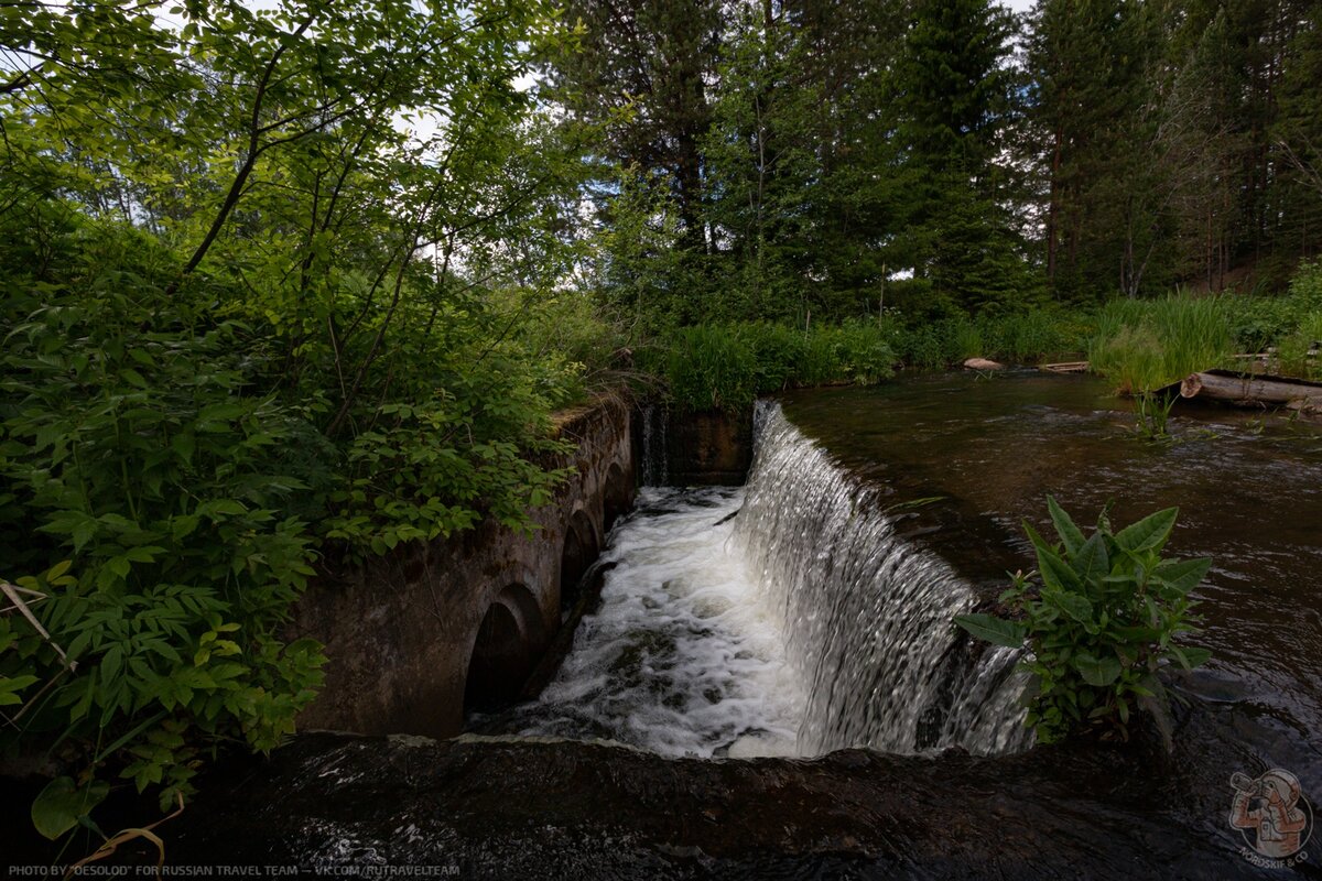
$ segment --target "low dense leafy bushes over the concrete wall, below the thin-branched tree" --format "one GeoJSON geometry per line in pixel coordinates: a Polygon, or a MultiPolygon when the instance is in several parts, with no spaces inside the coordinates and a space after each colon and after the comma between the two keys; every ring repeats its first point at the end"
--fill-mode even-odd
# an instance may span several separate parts
{"type": "Polygon", "coordinates": [[[111,781],[171,804],[219,746],[293,730],[325,658],[282,634],[323,553],[531,528],[561,478],[550,408],[583,367],[525,326],[535,306],[475,295],[432,324],[423,301],[346,400],[389,308],[352,284],[324,322],[366,330],[336,351],[223,280],[168,292],[153,236],[67,214],[34,260],[20,226],[0,236],[0,580],[36,623],[0,614],[0,750],[58,744],[79,783],[37,814],[59,833],[79,818],[53,804],[86,814],[111,781]]]}

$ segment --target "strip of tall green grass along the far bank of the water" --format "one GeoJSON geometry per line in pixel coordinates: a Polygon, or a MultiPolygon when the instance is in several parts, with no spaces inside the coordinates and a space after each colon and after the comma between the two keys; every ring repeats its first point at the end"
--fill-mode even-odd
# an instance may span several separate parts
{"type": "Polygon", "coordinates": [[[637,366],[662,376],[681,407],[738,409],[783,388],[875,383],[896,365],[945,370],[976,355],[1038,363],[1087,353],[1095,372],[1136,395],[1269,346],[1284,371],[1317,375],[1319,359],[1307,353],[1318,342],[1322,263],[1313,263],[1300,267],[1282,297],[1175,293],[1114,300],[1097,312],[1039,309],[919,325],[887,314],[809,330],[755,321],[698,325],[640,350],[637,366]]]}

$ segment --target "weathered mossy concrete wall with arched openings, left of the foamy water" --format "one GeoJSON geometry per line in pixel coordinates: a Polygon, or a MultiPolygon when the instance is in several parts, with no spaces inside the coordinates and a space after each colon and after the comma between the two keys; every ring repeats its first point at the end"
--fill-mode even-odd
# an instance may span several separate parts
{"type": "Polygon", "coordinates": [[[611,523],[633,503],[631,412],[603,398],[557,416],[576,450],[551,462],[571,474],[533,511],[531,535],[485,522],[316,580],[290,630],[321,641],[329,663],[300,730],[448,737],[465,708],[512,701],[611,523]]]}

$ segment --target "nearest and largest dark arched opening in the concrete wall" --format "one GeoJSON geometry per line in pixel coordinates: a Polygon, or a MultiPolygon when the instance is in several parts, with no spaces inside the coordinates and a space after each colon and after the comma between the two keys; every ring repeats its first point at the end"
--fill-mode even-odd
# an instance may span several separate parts
{"type": "Polygon", "coordinates": [[[464,684],[464,712],[492,712],[518,700],[546,647],[546,627],[531,592],[512,584],[486,608],[464,684]]]}

